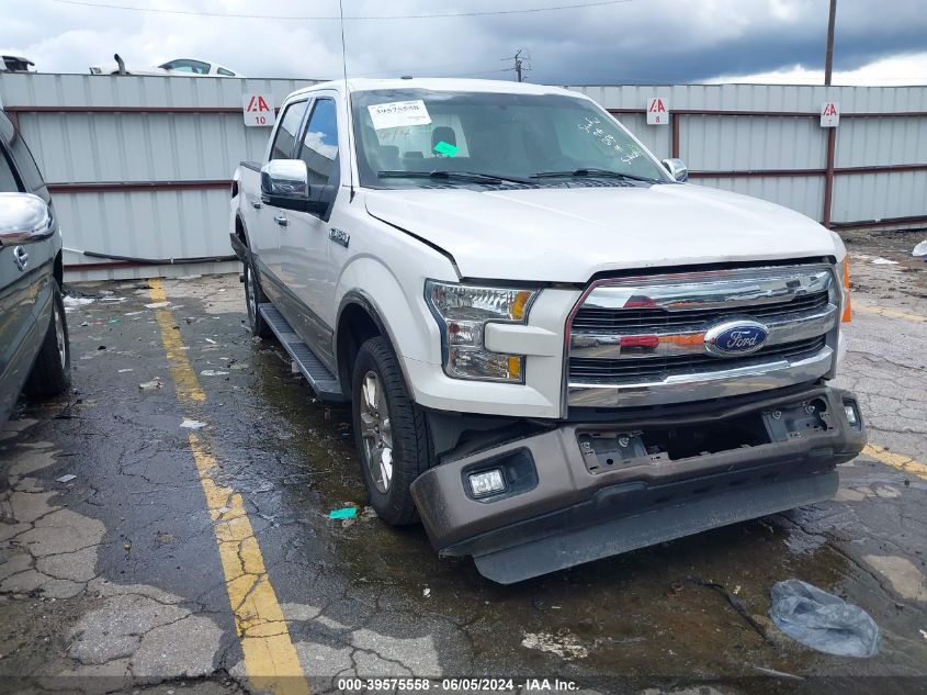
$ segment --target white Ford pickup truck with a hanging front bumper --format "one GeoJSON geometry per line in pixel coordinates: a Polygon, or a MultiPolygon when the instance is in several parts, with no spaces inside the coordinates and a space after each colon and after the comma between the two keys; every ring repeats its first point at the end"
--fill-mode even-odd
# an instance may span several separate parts
{"type": "Polygon", "coordinates": [[[846,249],[687,173],[563,89],[296,91],[231,187],[251,329],[350,401],[377,514],[497,582],[826,500],[846,249]]]}

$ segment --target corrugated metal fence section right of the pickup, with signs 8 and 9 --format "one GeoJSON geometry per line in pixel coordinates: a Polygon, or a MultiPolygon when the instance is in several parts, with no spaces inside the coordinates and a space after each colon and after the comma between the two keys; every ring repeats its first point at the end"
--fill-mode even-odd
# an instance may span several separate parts
{"type": "Polygon", "coordinates": [[[927,226],[927,87],[572,87],[691,180],[787,205],[834,227],[927,226]],[[666,125],[646,125],[647,99],[666,125]],[[840,123],[821,127],[836,101],[840,123]]]}

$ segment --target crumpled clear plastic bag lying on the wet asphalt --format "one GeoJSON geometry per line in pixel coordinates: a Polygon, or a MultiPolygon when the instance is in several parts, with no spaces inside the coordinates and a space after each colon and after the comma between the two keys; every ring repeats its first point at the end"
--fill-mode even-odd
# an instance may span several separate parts
{"type": "Polygon", "coordinates": [[[873,657],[879,626],[866,610],[801,580],[772,587],[769,617],[805,647],[838,657],[873,657]]]}

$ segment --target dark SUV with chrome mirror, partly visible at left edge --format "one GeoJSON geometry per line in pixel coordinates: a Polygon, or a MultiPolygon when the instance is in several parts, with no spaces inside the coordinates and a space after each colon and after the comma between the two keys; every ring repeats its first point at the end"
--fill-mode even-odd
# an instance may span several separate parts
{"type": "Polygon", "coordinates": [[[21,391],[70,386],[61,234],[22,135],[0,111],[0,425],[21,391]]]}

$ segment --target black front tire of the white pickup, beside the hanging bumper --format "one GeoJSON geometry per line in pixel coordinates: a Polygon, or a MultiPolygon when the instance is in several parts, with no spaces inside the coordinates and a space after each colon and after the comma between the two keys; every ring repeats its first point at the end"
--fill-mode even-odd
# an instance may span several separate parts
{"type": "MultiPolygon", "coordinates": [[[[418,511],[409,485],[433,464],[431,437],[425,413],[409,397],[399,362],[385,338],[370,338],[358,351],[351,379],[351,401],[354,441],[371,506],[384,522],[393,526],[417,523],[418,511]],[[374,473],[374,469],[378,468],[374,457],[377,451],[381,457],[384,456],[386,448],[383,446],[385,438],[377,440],[376,437],[382,436],[386,427],[376,430],[378,435],[371,430],[370,406],[365,395],[370,390],[364,391],[371,374],[375,374],[381,384],[377,393],[385,397],[383,403],[388,421],[392,474],[385,489],[382,474],[384,469],[380,468],[378,480],[374,473]],[[377,442],[381,445],[378,449],[377,442]]],[[[374,418],[373,422],[377,421],[374,418]]],[[[378,422],[383,424],[382,418],[378,422]]]]}

